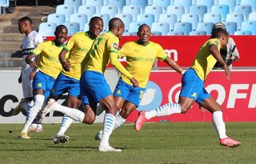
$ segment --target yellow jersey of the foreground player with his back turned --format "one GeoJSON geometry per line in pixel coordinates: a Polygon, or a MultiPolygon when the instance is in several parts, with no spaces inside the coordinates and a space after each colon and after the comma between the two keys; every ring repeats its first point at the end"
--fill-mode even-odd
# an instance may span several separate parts
{"type": "Polygon", "coordinates": [[[111,62],[121,74],[126,75],[128,78],[133,78],[122,66],[121,62],[118,61],[118,44],[118,37],[111,31],[99,35],[83,61],[85,63],[83,71],[94,70],[104,74],[106,66],[111,62]]]}

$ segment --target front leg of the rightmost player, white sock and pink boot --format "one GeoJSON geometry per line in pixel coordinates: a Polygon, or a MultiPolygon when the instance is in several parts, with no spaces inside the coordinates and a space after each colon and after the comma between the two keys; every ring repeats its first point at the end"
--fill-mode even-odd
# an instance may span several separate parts
{"type": "Polygon", "coordinates": [[[222,106],[220,106],[213,98],[204,99],[202,106],[207,110],[210,110],[213,114],[213,123],[217,130],[220,144],[222,146],[230,147],[240,146],[241,142],[231,139],[226,135],[226,126],[222,118],[222,106]]]}

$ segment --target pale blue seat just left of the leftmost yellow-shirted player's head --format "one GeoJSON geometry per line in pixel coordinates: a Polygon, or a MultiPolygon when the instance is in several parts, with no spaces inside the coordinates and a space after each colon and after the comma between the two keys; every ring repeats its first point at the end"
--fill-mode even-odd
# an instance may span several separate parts
{"type": "Polygon", "coordinates": [[[54,22],[42,22],[39,24],[38,33],[43,37],[54,36],[56,26],[57,25],[54,22]]]}

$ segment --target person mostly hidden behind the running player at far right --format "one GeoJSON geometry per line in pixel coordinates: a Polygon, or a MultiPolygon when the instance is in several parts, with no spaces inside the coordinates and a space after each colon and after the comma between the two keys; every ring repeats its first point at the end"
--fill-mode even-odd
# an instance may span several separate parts
{"type": "MultiPolygon", "coordinates": [[[[214,30],[222,28],[226,30],[226,26],[222,22],[217,22],[213,26],[212,33],[214,30]]],[[[232,68],[232,62],[238,62],[240,59],[238,47],[236,46],[234,39],[229,37],[229,42],[227,42],[226,48],[220,51],[222,54],[223,60],[226,62],[226,65],[232,68]]],[[[215,68],[222,68],[222,65],[219,62],[216,62],[215,68]]]]}

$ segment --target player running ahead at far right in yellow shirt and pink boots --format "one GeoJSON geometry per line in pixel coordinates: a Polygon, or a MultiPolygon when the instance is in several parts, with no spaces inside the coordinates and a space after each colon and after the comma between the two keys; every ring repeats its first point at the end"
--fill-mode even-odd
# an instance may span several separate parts
{"type": "Polygon", "coordinates": [[[226,30],[214,30],[212,38],[202,45],[192,66],[182,76],[182,90],[179,95],[178,104],[170,102],[155,110],[142,110],[136,121],[135,129],[137,131],[141,130],[144,122],[150,118],[170,114],[185,114],[190,110],[194,102],[198,102],[213,114],[214,127],[218,132],[220,144],[230,147],[239,146],[241,142],[235,141],[226,135],[226,127],[222,118],[222,106],[214,101],[203,87],[206,76],[213,69],[216,61],[222,64],[226,77],[230,79],[230,69],[220,54],[220,49],[226,47],[228,39],[229,36],[226,30]]]}

